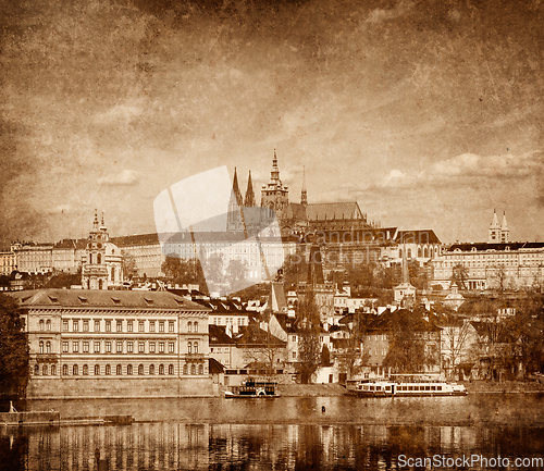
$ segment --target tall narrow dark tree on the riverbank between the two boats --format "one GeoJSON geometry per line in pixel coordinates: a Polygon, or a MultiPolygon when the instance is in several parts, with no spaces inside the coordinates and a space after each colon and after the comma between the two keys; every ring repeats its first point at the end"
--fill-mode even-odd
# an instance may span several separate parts
{"type": "Polygon", "coordinates": [[[321,343],[319,311],[316,306],[316,294],[312,287],[307,287],[298,303],[300,361],[297,363],[302,384],[311,383],[312,375],[321,364],[321,343]]]}

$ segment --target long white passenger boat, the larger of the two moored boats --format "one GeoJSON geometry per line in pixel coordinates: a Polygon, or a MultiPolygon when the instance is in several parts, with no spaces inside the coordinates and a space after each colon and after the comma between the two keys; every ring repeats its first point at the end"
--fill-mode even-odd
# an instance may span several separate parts
{"type": "Polygon", "coordinates": [[[422,375],[392,375],[388,380],[349,381],[346,389],[363,397],[466,396],[462,384],[422,375]],[[397,377],[395,377],[397,376],[397,377]]]}

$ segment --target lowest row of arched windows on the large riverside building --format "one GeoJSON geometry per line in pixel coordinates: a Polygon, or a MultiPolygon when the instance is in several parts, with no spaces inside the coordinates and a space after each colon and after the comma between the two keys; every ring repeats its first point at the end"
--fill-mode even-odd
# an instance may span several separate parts
{"type": "MultiPolygon", "coordinates": [[[[82,371],[82,375],[84,376],[87,376],[89,374],[89,367],[88,364],[84,364],[81,369],[82,371]]],[[[95,376],[100,376],[102,374],[102,367],[100,367],[100,364],[95,364],[95,376]]],[[[145,372],[145,367],[144,364],[138,364],[138,375],[144,375],[146,374],[145,372]]],[[[158,371],[158,374],[159,375],[162,375],[162,374],[166,374],[165,371],[165,365],[164,364],[159,364],[159,368],[156,370],[156,365],[154,364],[150,364],[147,369],[147,374],[149,375],[153,375],[156,374],[156,371],[158,371]]],[[[62,365],[62,374],[64,376],[67,376],[69,375],[69,372],[70,372],[70,368],[67,364],[63,364],[62,365]]],[[[183,374],[203,374],[203,364],[195,364],[195,363],[191,363],[190,365],[188,365],[187,363],[185,363],[183,365],[183,369],[182,369],[182,373],[183,374]]],[[[48,365],[48,364],[42,364],[41,365],[41,369],[40,369],[40,365],[39,364],[35,364],[34,365],[34,374],[37,376],[37,375],[44,375],[44,376],[48,376],[48,375],[52,375],[54,376],[57,374],[57,365],[55,364],[51,364],[51,365],[48,365]]],[[[111,368],[111,364],[106,364],[104,368],[103,368],[103,374],[109,376],[112,374],[112,368],[111,368]]],[[[120,375],[123,375],[123,374],[127,374],[127,375],[133,375],[134,374],[134,367],[132,364],[127,364],[126,365],[126,370],[123,369],[123,365],[122,364],[118,364],[115,367],[115,374],[118,376],[120,375]]],[[[168,374],[172,375],[174,374],[174,365],[172,363],[170,363],[168,365],[168,374]]],[[[79,375],[79,365],[78,364],[73,364],[72,365],[72,375],[73,376],[78,376],[79,375]]]]}

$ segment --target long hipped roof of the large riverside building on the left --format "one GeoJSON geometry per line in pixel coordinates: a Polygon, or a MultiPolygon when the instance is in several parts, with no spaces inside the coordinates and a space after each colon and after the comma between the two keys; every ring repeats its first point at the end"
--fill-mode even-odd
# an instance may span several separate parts
{"type": "Polygon", "coordinates": [[[10,293],[23,307],[188,309],[207,311],[203,306],[168,292],[110,289],[36,289],[10,293]]]}

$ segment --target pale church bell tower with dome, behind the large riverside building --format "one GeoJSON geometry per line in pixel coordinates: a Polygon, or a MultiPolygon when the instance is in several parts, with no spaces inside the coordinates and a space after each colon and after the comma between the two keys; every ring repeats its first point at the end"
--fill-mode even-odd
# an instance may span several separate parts
{"type": "Polygon", "coordinates": [[[123,284],[121,251],[110,243],[108,228],[99,224],[95,210],[95,221],[87,239],[87,247],[82,260],[82,286],[84,289],[108,289],[123,284]]]}

